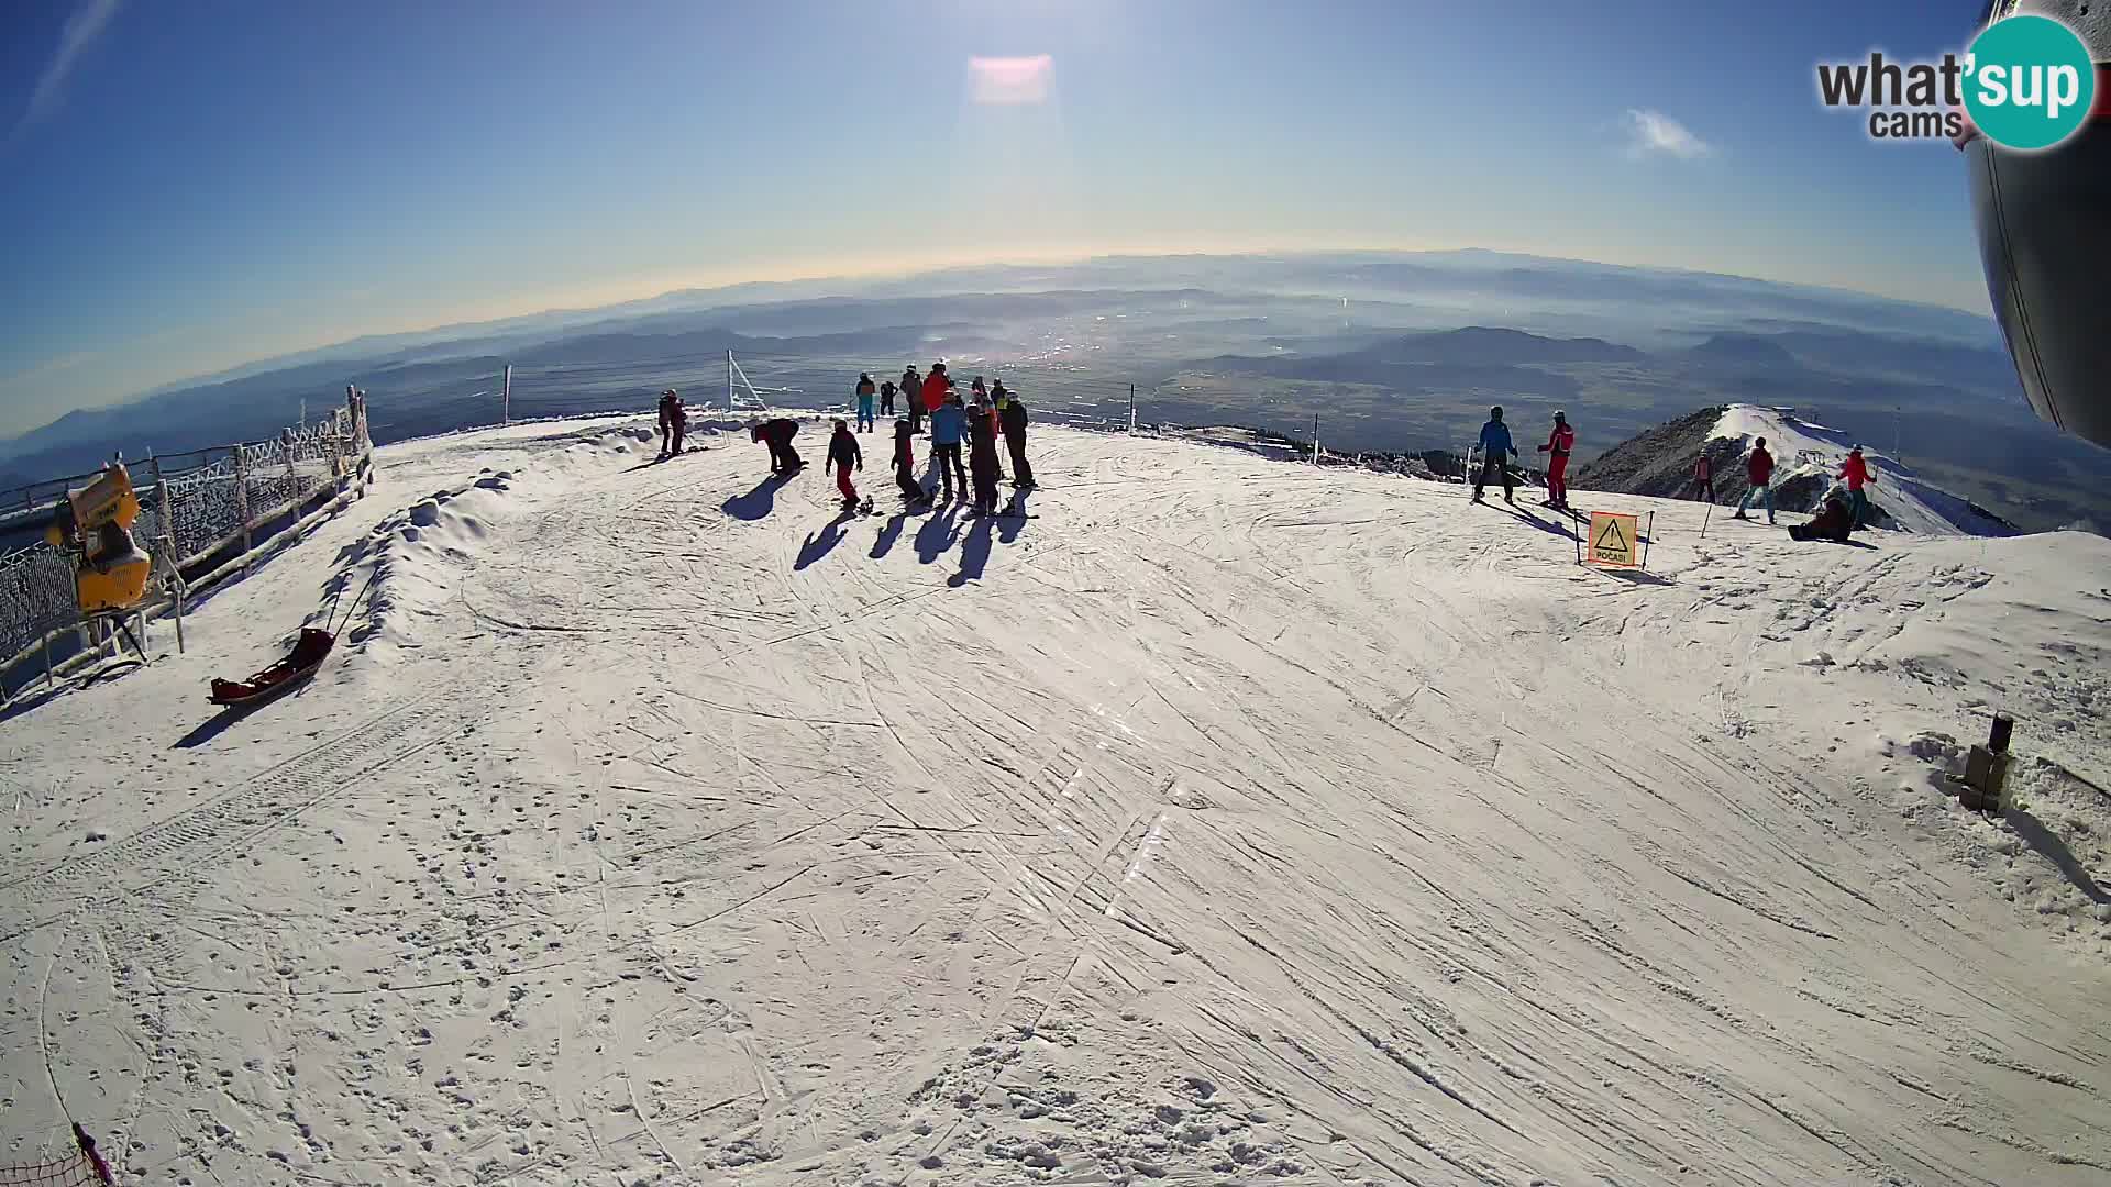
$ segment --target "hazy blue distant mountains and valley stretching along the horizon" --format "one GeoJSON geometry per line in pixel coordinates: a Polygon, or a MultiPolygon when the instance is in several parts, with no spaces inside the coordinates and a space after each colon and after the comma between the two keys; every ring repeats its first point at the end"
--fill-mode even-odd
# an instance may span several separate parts
{"type": "Polygon", "coordinates": [[[798,370],[787,393],[950,357],[1015,368],[1072,414],[1125,416],[1134,382],[1146,418],[1294,431],[1319,412],[1332,448],[1372,450],[1452,446],[1488,403],[1520,425],[1568,408],[1583,454],[1697,403],[1822,406],[1828,422],[1953,467],[1948,486],[2027,526],[2111,522],[2111,494],[2094,494],[2111,490],[2107,456],[2029,414],[1991,319],[1495,251],[952,268],[361,338],[72,412],[0,444],[0,488],[116,450],[255,439],[348,382],[369,393],[382,439],[494,422],[507,363],[534,414],[644,408],[659,387],[718,389],[726,351],[798,370]],[[1119,389],[1123,408],[1093,406],[1091,384],[1119,389]]]}

